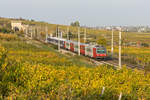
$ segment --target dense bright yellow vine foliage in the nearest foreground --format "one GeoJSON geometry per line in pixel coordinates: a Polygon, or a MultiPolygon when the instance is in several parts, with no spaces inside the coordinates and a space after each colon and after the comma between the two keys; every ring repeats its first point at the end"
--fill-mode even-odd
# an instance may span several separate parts
{"type": "Polygon", "coordinates": [[[106,65],[96,68],[56,67],[19,62],[22,61],[10,62],[2,76],[1,93],[4,98],[116,100],[118,94],[123,92],[123,99],[136,100],[141,97],[146,99],[150,95],[150,74],[144,76],[141,71],[126,68],[114,70],[106,65]],[[103,86],[106,90],[101,97],[103,86]]]}

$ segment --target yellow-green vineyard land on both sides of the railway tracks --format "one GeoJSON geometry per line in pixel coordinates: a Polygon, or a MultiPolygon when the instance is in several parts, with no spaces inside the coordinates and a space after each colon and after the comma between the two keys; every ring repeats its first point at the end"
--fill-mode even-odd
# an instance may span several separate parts
{"type": "MultiPolygon", "coordinates": [[[[11,20],[0,18],[9,29],[11,20]]],[[[127,69],[125,65],[116,70],[113,66],[96,66],[86,57],[61,54],[56,46],[37,41],[45,40],[46,26],[53,36],[59,26],[64,38],[69,27],[71,40],[77,40],[77,27],[22,22],[36,25],[38,31],[32,40],[25,38],[24,32],[0,33],[0,99],[117,100],[120,93],[121,100],[150,99],[150,47],[141,45],[150,44],[150,33],[122,33],[122,61],[145,70],[127,69]]],[[[86,31],[87,42],[104,37],[110,55],[111,31],[90,28],[86,31]]],[[[83,42],[84,28],[80,32],[83,42]]],[[[118,31],[114,32],[113,57],[118,58],[118,31]]]]}

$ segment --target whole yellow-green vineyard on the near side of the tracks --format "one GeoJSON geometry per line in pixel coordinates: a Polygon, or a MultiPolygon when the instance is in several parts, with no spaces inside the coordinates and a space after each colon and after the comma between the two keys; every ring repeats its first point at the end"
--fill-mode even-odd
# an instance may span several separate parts
{"type": "Polygon", "coordinates": [[[117,100],[120,93],[122,100],[150,99],[149,72],[95,66],[53,48],[0,34],[0,99],[117,100]]]}

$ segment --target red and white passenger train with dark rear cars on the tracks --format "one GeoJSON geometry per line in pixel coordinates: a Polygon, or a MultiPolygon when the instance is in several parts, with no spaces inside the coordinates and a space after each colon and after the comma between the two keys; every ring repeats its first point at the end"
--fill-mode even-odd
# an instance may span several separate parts
{"type": "MultiPolygon", "coordinates": [[[[48,37],[47,42],[54,45],[58,45],[58,43],[60,42],[60,48],[78,53],[78,42],[57,37],[48,37]]],[[[80,43],[80,54],[94,59],[107,58],[107,50],[104,46],[87,43],[80,43]]]]}

